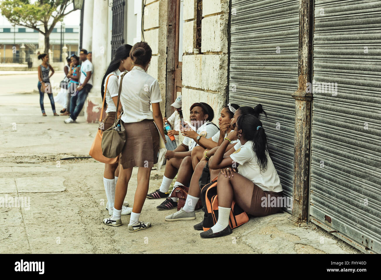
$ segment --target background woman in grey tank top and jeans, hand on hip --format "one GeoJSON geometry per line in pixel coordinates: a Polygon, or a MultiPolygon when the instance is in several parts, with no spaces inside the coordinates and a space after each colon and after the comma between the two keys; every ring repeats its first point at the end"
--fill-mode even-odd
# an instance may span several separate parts
{"type": "Polygon", "coordinates": [[[48,94],[51,109],[53,110],[54,116],[59,116],[56,113],[56,107],[54,106],[54,98],[52,93],[52,87],[50,85],[50,77],[54,74],[54,69],[49,64],[49,56],[46,53],[39,54],[38,59],[42,60],[42,63],[37,67],[38,69],[38,92],[40,93],[40,107],[42,111],[42,115],[46,117],[45,109],[44,109],[44,94],[45,92],[48,94]],[[51,69],[51,74],[49,75],[51,69]]]}

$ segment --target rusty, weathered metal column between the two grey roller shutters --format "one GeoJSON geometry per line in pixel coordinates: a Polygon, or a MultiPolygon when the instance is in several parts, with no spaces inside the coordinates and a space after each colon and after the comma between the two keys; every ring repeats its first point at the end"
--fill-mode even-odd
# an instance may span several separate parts
{"type": "Polygon", "coordinates": [[[295,98],[295,146],[293,207],[290,221],[296,226],[306,226],[309,207],[309,170],[311,143],[312,94],[306,92],[312,75],[313,5],[311,0],[299,0],[299,59],[298,90],[295,98]]]}

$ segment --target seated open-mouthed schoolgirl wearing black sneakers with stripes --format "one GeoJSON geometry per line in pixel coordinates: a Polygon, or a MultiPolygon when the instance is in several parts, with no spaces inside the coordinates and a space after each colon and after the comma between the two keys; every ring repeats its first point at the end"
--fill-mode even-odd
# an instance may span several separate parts
{"type": "MultiPolygon", "coordinates": [[[[194,138],[185,137],[182,143],[173,151],[167,151],[165,157],[168,159],[165,165],[165,172],[160,189],[147,195],[149,199],[160,199],[168,197],[169,187],[178,174],[174,187],[181,185],[187,186],[191,180],[192,168],[192,150],[200,144],[201,138],[211,138],[218,131],[218,127],[211,122],[214,117],[214,111],[204,102],[194,103],[190,108],[190,125],[185,123],[185,128],[181,129],[184,133],[193,131],[194,138]]],[[[177,198],[167,198],[158,205],[158,210],[170,210],[177,207],[177,198]]]]}

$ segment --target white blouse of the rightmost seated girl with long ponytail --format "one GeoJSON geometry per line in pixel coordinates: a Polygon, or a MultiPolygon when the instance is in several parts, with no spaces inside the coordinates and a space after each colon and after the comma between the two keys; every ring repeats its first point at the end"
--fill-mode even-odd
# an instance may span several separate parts
{"type": "Polygon", "coordinates": [[[239,174],[249,179],[264,191],[281,192],[283,190],[278,173],[275,170],[274,163],[272,163],[269,153],[266,152],[267,169],[266,171],[261,172],[259,170],[257,156],[253,151],[253,141],[247,141],[242,146],[240,143],[237,143],[234,146],[234,149],[235,152],[233,152],[230,157],[232,160],[239,163],[239,174]]]}

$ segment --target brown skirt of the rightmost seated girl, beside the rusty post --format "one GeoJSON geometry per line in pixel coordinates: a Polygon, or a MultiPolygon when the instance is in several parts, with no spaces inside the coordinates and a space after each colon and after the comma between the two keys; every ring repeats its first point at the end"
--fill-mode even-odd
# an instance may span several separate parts
{"type": "MultiPolygon", "coordinates": [[[[253,194],[251,196],[251,206],[250,210],[247,212],[255,217],[263,217],[275,213],[282,213],[282,207],[277,203],[278,197],[283,197],[283,192],[268,192],[264,191],[256,184],[254,184],[253,194]],[[270,195],[270,198],[269,198],[270,195]],[[275,207],[274,204],[271,205],[271,199],[274,201],[276,199],[275,207]],[[266,201],[265,201],[266,200],[266,201]],[[269,203],[270,202],[270,203],[269,203]]],[[[274,202],[273,202],[274,203],[274,202]]],[[[283,207],[287,207],[284,205],[283,207]]]]}

